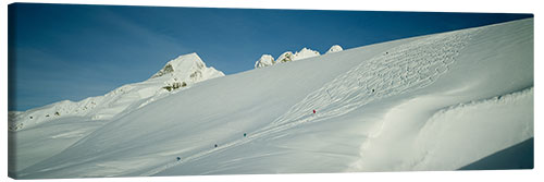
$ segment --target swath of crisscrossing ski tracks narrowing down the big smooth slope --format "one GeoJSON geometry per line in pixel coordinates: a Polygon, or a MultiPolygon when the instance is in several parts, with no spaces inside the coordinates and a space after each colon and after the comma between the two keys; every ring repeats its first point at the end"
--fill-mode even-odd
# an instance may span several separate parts
{"type": "Polygon", "coordinates": [[[279,117],[270,125],[251,132],[251,135],[219,145],[210,150],[183,157],[181,161],[159,166],[141,175],[153,175],[272,133],[342,116],[371,101],[425,87],[448,71],[448,66],[455,62],[459,51],[479,29],[481,28],[422,37],[381,52],[368,61],[361,60],[359,65],[310,93],[285,114],[279,117]],[[311,113],[313,109],[317,110],[316,114],[311,113]]]}

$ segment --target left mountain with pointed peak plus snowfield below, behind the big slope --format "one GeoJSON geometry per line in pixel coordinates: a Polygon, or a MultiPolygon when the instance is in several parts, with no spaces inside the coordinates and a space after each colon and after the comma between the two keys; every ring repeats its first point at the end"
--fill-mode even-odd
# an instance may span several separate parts
{"type": "Polygon", "coordinates": [[[114,118],[178,90],[169,92],[165,86],[185,83],[180,89],[186,89],[220,76],[224,74],[189,53],[171,60],[147,81],[123,85],[103,96],[10,112],[10,171],[51,157],[114,118]]]}

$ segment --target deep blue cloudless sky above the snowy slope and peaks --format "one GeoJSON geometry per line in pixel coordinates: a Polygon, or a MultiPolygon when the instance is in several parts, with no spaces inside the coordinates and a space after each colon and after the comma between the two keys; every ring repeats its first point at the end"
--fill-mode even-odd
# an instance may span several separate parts
{"type": "Polygon", "coordinates": [[[9,110],[103,95],[197,52],[225,74],[263,53],[325,52],[531,14],[301,11],[16,3],[9,7],[9,110]]]}

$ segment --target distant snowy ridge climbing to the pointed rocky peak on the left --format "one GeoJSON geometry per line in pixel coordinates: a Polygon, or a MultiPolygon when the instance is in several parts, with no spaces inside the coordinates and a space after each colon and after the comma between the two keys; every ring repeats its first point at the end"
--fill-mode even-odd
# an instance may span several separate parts
{"type": "Polygon", "coordinates": [[[24,112],[10,111],[9,130],[17,131],[65,117],[112,119],[127,108],[139,108],[158,98],[190,87],[195,83],[224,76],[223,72],[206,66],[197,53],[180,56],[169,61],[150,78],[123,85],[114,90],[81,101],[63,100],[24,112]]]}

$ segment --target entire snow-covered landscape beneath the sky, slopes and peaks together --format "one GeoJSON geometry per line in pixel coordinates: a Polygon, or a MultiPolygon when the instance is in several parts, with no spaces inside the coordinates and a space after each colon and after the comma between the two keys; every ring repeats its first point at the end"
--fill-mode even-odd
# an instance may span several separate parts
{"type": "Polygon", "coordinates": [[[458,170],[533,137],[533,19],[341,50],[227,76],[193,53],[106,96],[12,112],[10,175],[458,170]]]}

